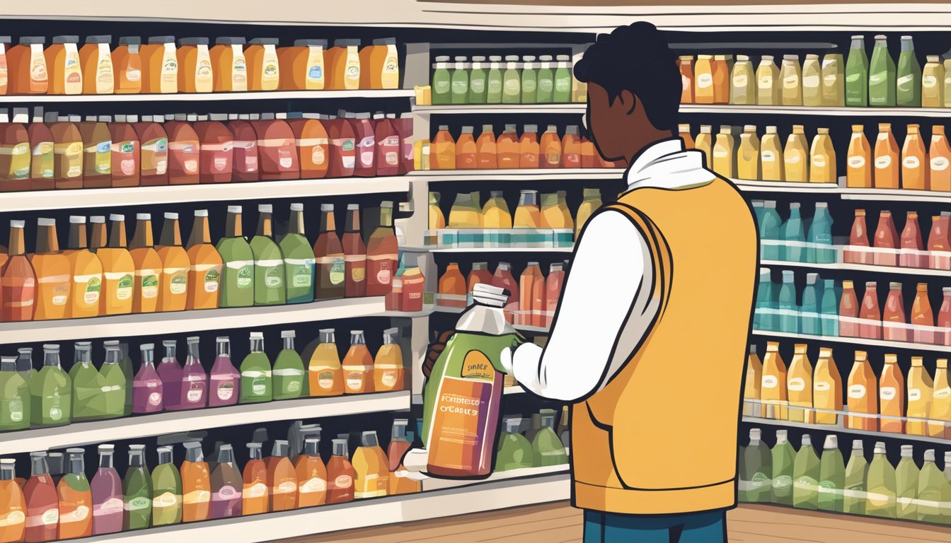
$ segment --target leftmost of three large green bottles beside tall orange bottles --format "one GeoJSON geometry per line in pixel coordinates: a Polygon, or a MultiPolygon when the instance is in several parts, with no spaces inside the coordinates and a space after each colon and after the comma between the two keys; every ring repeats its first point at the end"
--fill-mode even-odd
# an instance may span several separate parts
{"type": "Polygon", "coordinates": [[[224,237],[215,247],[222,256],[221,307],[254,305],[254,251],[242,235],[241,205],[228,205],[224,237]]]}

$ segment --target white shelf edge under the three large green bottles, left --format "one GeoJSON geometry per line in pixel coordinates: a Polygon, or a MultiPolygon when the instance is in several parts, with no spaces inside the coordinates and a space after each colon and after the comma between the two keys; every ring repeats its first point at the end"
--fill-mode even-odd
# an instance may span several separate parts
{"type": "Polygon", "coordinates": [[[383,313],[383,307],[383,297],[379,296],[266,307],[114,315],[92,319],[4,322],[0,324],[0,345],[112,336],[160,336],[199,330],[270,326],[289,322],[375,317],[383,313]]]}

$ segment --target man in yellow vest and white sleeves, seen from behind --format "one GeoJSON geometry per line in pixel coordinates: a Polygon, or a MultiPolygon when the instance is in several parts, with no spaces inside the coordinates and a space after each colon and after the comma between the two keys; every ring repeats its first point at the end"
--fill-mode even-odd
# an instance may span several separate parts
{"type": "Polygon", "coordinates": [[[736,187],[674,137],[681,78],[648,23],[601,35],[574,68],[587,124],[627,190],[592,216],[545,349],[502,363],[571,401],[585,542],[726,541],[735,506],[756,228],[736,187]]]}

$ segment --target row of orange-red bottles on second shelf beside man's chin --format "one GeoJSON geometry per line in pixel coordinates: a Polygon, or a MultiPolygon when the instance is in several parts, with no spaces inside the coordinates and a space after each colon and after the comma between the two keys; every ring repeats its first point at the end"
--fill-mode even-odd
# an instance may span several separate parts
{"type": "Polygon", "coordinates": [[[473,126],[462,126],[454,139],[449,126],[441,125],[433,138],[417,141],[420,161],[416,169],[534,169],[575,167],[621,167],[601,158],[594,143],[578,135],[577,126],[549,125],[538,139],[538,126],[525,125],[521,136],[515,125],[506,125],[495,137],[492,125],[483,125],[478,139],[473,126]]]}

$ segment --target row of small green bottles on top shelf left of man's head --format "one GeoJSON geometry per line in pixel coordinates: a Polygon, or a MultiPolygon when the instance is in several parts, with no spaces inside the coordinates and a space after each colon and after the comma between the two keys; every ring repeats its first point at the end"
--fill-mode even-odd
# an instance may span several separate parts
{"type": "MultiPolygon", "coordinates": [[[[566,104],[584,102],[587,86],[572,77],[572,57],[559,55],[437,56],[432,104],[566,104]]],[[[421,105],[421,104],[420,104],[421,105]]]]}

